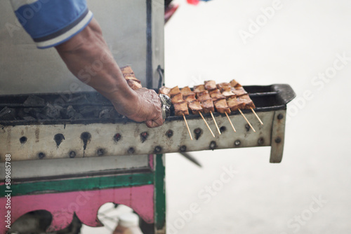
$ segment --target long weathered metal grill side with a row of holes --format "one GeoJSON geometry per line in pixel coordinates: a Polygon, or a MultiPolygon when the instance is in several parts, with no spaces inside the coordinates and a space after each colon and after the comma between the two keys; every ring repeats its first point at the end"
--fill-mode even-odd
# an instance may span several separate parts
{"type": "MultiPolygon", "coordinates": [[[[270,146],[274,111],[258,112],[265,125],[260,125],[251,111],[245,112],[256,132],[248,128],[239,113],[230,115],[237,132],[232,130],[226,116],[218,114],[216,121],[223,133],[216,133],[216,138],[212,137],[201,118],[188,119],[193,141],[183,118],[166,121],[161,127],[153,129],[147,128],[144,123],[134,122],[1,126],[0,135],[4,141],[0,142],[0,160],[4,162],[6,153],[11,153],[11,160],[15,161],[70,158],[72,155],[75,158],[89,158],[270,146]],[[195,134],[197,128],[201,130],[200,135],[195,134]],[[170,131],[172,135],[169,135],[170,131]],[[140,137],[142,132],[147,132],[147,139],[140,137]],[[60,144],[55,141],[58,134],[64,137],[60,144]],[[120,137],[116,138],[116,135],[120,137]],[[26,137],[27,141],[21,143],[21,137],[26,137]]],[[[212,131],[216,132],[211,116],[205,115],[205,119],[212,131]]]]}

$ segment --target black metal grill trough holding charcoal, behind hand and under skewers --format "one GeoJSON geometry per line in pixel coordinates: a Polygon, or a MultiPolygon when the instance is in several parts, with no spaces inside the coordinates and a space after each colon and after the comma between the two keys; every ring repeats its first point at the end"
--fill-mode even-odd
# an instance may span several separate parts
{"type": "MultiPolygon", "coordinates": [[[[256,105],[256,112],[260,111],[274,111],[279,109],[286,109],[286,104],[291,101],[296,95],[290,85],[275,84],[275,85],[251,85],[244,86],[244,89],[249,92],[251,99],[256,105]]],[[[158,92],[158,90],[155,90],[158,92]]],[[[1,118],[1,125],[54,125],[54,124],[74,124],[74,123],[126,123],[133,122],[124,116],[119,115],[114,111],[111,102],[100,95],[98,92],[74,92],[74,93],[36,93],[26,95],[0,95],[0,111],[4,109],[11,109],[13,111],[13,119],[1,118]],[[39,102],[26,102],[29,96],[38,97],[39,102]],[[40,102],[41,100],[41,102],[40,102]],[[41,115],[41,119],[35,118],[26,120],[21,118],[20,113],[23,110],[34,109],[42,110],[48,108],[47,106],[60,106],[60,118],[51,118],[41,115]],[[69,118],[65,114],[65,109],[72,106],[77,111],[79,109],[93,109],[91,113],[87,112],[79,118],[69,118]],[[109,116],[99,116],[103,109],[113,109],[114,113],[109,116]],[[100,117],[100,118],[99,118],[100,117]]],[[[244,113],[251,110],[243,110],[244,113]]],[[[3,111],[5,112],[5,111],[3,111]]],[[[79,111],[78,111],[79,112],[79,111]]],[[[231,115],[238,114],[237,111],[232,111],[231,115]]],[[[209,115],[209,114],[207,114],[209,115]]],[[[220,113],[214,113],[215,116],[220,113]]],[[[204,115],[206,116],[206,114],[204,115]]],[[[4,117],[4,114],[3,114],[4,117]]],[[[35,116],[33,116],[34,118],[35,116]]],[[[181,116],[174,116],[171,110],[171,116],[166,121],[174,121],[183,118],[181,116]]],[[[199,118],[198,115],[190,114],[187,118],[199,118]]]]}

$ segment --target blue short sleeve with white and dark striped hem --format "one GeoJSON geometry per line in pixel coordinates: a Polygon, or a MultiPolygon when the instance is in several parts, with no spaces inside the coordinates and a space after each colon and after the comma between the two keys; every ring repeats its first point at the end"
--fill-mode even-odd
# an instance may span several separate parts
{"type": "Polygon", "coordinates": [[[86,0],[11,0],[15,15],[38,48],[58,46],[88,25],[86,0]]]}

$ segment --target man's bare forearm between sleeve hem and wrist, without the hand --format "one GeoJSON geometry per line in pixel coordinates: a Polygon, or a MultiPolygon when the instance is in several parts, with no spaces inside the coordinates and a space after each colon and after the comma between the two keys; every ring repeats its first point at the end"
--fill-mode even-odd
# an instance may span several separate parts
{"type": "Polygon", "coordinates": [[[131,114],[130,106],[138,96],[126,83],[94,19],[56,49],[74,76],[110,99],[119,113],[131,114]]]}

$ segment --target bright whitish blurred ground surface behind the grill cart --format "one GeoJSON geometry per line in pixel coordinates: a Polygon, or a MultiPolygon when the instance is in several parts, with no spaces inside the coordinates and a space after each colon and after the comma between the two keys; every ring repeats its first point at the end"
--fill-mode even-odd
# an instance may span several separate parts
{"type": "Polygon", "coordinates": [[[351,2],[282,0],[267,22],[261,8],[272,1],[178,2],[165,31],[167,86],[236,78],[289,83],[298,98],[288,106],[280,164],[268,163],[269,148],[192,153],[201,169],[166,156],[168,233],[351,233],[351,2]],[[249,31],[256,19],[260,29],[249,31]],[[325,72],[330,78],[314,78],[325,72]],[[237,173],[204,198],[223,166],[237,173]],[[194,203],[196,212],[185,212],[194,203]]]}

